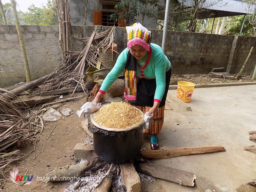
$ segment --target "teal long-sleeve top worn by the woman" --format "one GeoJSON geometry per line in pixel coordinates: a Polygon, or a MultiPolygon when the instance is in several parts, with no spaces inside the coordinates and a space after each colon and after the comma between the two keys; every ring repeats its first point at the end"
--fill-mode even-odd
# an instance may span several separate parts
{"type": "MultiPolygon", "coordinates": [[[[162,100],[164,90],[165,90],[165,73],[170,69],[171,62],[168,60],[167,56],[164,55],[162,48],[154,43],[150,44],[152,52],[149,60],[149,64],[146,68],[144,68],[144,77],[149,79],[156,79],[156,90],[154,99],[162,100]]],[[[117,77],[124,70],[127,60],[127,54],[129,49],[126,48],[122,51],[122,53],[118,56],[115,66],[108,73],[106,78],[104,79],[100,90],[103,92],[107,92],[109,87],[115,82],[117,77]]],[[[136,69],[137,76],[141,76],[141,70],[139,66],[136,69]]]]}

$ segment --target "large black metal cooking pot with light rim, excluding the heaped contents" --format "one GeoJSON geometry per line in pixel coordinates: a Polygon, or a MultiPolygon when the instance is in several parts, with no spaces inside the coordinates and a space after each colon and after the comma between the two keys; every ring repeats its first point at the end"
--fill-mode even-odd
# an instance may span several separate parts
{"type": "MultiPolygon", "coordinates": [[[[143,116],[142,111],[141,114],[143,116]]],[[[93,133],[94,151],[98,157],[109,163],[125,163],[138,155],[144,120],[132,128],[113,129],[98,125],[92,117],[93,114],[90,114],[88,129],[93,133]]]]}

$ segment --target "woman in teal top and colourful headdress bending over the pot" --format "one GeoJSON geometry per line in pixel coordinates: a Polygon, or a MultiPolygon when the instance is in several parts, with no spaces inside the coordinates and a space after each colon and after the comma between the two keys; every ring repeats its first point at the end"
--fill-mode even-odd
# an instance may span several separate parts
{"type": "Polygon", "coordinates": [[[124,70],[124,97],[154,119],[149,129],[143,129],[143,134],[151,135],[150,147],[155,150],[159,148],[157,134],[163,126],[171,63],[160,46],[150,43],[151,32],[140,23],[126,27],[126,33],[127,48],[117,58],[92,102],[97,104],[124,70]]]}

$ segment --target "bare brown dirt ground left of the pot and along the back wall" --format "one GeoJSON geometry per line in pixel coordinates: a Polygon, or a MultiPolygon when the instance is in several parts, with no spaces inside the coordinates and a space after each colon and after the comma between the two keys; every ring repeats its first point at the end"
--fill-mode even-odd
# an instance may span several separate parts
{"type": "MultiPolygon", "coordinates": [[[[195,84],[209,84],[223,81],[222,78],[212,78],[208,75],[172,75],[170,84],[175,85],[178,81],[190,81],[195,84]],[[213,81],[214,79],[214,81],[213,81]]],[[[242,81],[249,82],[250,77],[242,77],[242,81]]],[[[225,80],[225,83],[238,82],[237,80],[225,80]]],[[[240,81],[241,82],[241,81],[240,81]]],[[[80,92],[76,96],[80,96],[80,92]]],[[[65,96],[68,97],[68,96],[65,96]]],[[[29,185],[17,185],[10,180],[0,177],[0,191],[63,191],[70,182],[44,183],[37,180],[36,177],[43,177],[56,166],[66,166],[75,164],[73,154],[74,146],[77,143],[83,143],[91,139],[87,133],[81,128],[83,117],[78,117],[76,111],[85,103],[85,99],[70,101],[56,108],[61,111],[62,108],[71,108],[73,114],[70,116],[62,116],[61,119],[55,122],[45,122],[45,128],[41,135],[38,135],[36,145],[34,141],[30,144],[22,145],[20,150],[27,154],[35,150],[19,162],[9,164],[5,169],[6,177],[9,177],[9,171],[14,166],[19,169],[19,174],[34,175],[33,183],[29,185]],[[47,139],[47,140],[46,140],[47,139]]],[[[50,107],[49,107],[50,108],[50,107]]],[[[146,142],[149,148],[149,142],[146,142]]],[[[156,181],[156,180],[155,180],[156,181]]],[[[148,191],[148,182],[143,182],[143,191],[148,191]]],[[[161,185],[158,182],[151,182],[151,190],[161,191],[161,185]]],[[[151,191],[149,190],[149,191],[151,191]]]]}

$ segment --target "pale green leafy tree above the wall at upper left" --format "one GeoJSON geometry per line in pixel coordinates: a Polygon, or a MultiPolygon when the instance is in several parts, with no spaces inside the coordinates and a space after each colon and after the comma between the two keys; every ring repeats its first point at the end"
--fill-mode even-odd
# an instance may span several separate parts
{"type": "Polygon", "coordinates": [[[30,5],[24,16],[27,25],[57,25],[55,16],[55,1],[48,0],[42,8],[30,5]]]}

